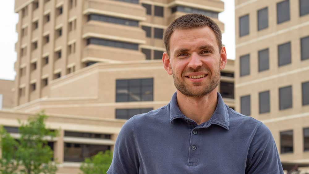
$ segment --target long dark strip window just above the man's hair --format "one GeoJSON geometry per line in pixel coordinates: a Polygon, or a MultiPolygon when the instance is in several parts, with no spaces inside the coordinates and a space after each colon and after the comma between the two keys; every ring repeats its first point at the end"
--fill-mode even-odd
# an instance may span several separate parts
{"type": "Polygon", "coordinates": [[[201,10],[201,9],[185,7],[185,6],[174,6],[171,8],[172,13],[175,13],[177,11],[184,12],[184,13],[201,14],[201,15],[205,15],[211,18],[216,18],[216,19],[218,19],[218,14],[219,14],[218,12],[215,12],[215,11],[201,10]]]}

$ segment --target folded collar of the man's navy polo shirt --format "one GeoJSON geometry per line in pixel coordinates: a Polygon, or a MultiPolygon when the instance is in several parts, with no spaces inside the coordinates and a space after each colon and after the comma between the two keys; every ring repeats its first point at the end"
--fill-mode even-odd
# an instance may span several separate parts
{"type": "MultiPolygon", "coordinates": [[[[214,124],[219,125],[228,130],[230,128],[229,114],[226,105],[223,102],[223,99],[219,93],[217,93],[217,97],[218,97],[217,107],[213,115],[210,117],[210,119],[204,123],[203,128],[207,128],[210,125],[214,124]]],[[[172,121],[177,118],[191,120],[180,111],[179,106],[177,104],[177,92],[175,92],[170,101],[170,123],[172,123],[172,121]]]]}

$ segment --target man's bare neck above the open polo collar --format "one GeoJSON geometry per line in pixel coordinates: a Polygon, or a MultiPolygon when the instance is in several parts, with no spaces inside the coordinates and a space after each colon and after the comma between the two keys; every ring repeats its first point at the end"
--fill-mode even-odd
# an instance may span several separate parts
{"type": "Polygon", "coordinates": [[[217,88],[201,98],[188,97],[177,90],[177,103],[180,111],[197,125],[210,119],[218,104],[217,88]]]}

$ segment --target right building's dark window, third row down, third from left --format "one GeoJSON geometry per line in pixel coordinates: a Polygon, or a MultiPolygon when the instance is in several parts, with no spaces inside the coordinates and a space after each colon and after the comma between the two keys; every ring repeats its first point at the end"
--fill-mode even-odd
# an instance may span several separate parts
{"type": "Polygon", "coordinates": [[[292,86],[279,88],[279,109],[292,108],[292,86]]]}

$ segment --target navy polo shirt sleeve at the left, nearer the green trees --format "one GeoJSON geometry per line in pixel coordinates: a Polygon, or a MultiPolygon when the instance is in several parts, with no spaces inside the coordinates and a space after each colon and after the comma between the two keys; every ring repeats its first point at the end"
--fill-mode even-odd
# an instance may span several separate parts
{"type": "Polygon", "coordinates": [[[139,160],[133,133],[133,119],[122,126],[116,139],[112,164],[107,174],[138,174],[139,160]]]}

